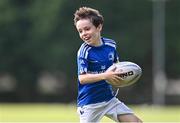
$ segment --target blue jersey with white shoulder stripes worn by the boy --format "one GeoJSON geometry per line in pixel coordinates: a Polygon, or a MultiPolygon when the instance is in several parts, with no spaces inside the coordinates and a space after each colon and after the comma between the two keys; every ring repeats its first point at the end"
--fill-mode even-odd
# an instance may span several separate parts
{"type": "MultiPolygon", "coordinates": [[[[118,61],[115,41],[101,38],[103,44],[98,47],[83,43],[77,54],[78,75],[84,73],[102,73],[118,61]]],[[[77,105],[83,106],[104,101],[114,97],[112,86],[105,80],[80,84],[78,80],[77,105]]]]}

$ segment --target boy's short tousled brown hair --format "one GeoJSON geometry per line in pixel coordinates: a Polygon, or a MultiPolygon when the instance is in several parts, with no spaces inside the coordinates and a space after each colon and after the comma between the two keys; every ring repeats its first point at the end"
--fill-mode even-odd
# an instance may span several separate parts
{"type": "Polygon", "coordinates": [[[74,25],[81,19],[89,19],[95,27],[103,24],[104,18],[98,10],[89,7],[80,7],[74,13],[74,25]]]}

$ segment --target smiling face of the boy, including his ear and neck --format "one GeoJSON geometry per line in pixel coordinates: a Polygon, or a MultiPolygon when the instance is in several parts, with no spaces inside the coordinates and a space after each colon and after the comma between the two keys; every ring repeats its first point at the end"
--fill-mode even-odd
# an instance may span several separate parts
{"type": "Polygon", "coordinates": [[[82,19],[77,21],[76,28],[80,38],[87,44],[98,46],[101,43],[101,24],[98,27],[95,27],[89,19],[82,19]]]}

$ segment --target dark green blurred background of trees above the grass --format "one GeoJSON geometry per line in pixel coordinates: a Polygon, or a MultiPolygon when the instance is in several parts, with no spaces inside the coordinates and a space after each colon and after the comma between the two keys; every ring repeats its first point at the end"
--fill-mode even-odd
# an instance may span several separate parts
{"type": "Polygon", "coordinates": [[[179,0],[0,0],[0,102],[76,104],[82,41],[73,14],[81,6],[98,9],[102,36],[142,67],[120,100],[180,105],[179,0]]]}

